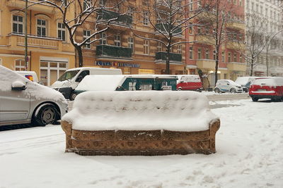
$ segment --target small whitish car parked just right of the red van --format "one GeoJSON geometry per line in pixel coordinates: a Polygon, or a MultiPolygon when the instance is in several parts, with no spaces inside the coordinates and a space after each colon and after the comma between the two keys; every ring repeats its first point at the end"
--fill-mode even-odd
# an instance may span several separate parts
{"type": "Polygon", "coordinates": [[[241,93],[243,92],[243,89],[240,84],[237,84],[233,80],[217,80],[216,86],[214,87],[214,92],[241,93]]]}

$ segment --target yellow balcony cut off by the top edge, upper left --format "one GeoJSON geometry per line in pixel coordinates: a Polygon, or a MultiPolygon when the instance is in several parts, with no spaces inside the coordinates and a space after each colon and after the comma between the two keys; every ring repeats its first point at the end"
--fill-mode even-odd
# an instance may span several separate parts
{"type": "MultiPolygon", "coordinates": [[[[53,13],[54,6],[50,4],[37,4],[42,3],[40,0],[28,0],[28,10],[38,11],[41,13],[53,13]]],[[[23,9],[25,8],[25,0],[6,0],[6,6],[11,8],[23,9]]]]}

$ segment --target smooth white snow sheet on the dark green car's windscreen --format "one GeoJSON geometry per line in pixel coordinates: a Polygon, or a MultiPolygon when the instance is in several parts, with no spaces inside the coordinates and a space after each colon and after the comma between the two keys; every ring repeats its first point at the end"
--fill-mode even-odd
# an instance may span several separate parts
{"type": "Polygon", "coordinates": [[[125,80],[125,75],[87,75],[81,80],[76,90],[115,91],[125,80]]]}

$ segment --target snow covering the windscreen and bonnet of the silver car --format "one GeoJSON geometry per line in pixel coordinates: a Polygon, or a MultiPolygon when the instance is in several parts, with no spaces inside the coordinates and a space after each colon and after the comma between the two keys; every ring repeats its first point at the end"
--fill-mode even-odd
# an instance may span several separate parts
{"type": "Polygon", "coordinates": [[[33,96],[37,100],[50,99],[52,101],[62,101],[64,103],[67,103],[66,99],[64,99],[64,96],[60,92],[57,92],[56,90],[49,87],[45,87],[41,84],[32,82],[22,75],[14,72],[13,70],[0,65],[0,91],[11,92],[12,85],[13,87],[22,87],[22,84],[25,84],[26,87],[26,89],[22,91],[23,94],[25,94],[26,98],[33,96]]]}

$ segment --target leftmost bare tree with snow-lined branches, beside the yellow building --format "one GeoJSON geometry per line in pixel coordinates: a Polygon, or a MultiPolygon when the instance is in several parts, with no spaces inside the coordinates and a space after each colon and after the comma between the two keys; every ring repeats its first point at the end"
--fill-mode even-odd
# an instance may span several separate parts
{"type": "Polygon", "coordinates": [[[42,0],[37,3],[30,4],[48,4],[56,8],[56,13],[62,15],[62,23],[64,23],[69,32],[69,39],[73,44],[79,56],[79,67],[83,66],[83,50],[84,45],[92,44],[98,41],[100,33],[109,29],[110,23],[119,19],[125,13],[120,13],[120,6],[126,0],[42,0]],[[118,11],[118,15],[109,15],[109,11],[118,11]],[[74,13],[74,18],[70,18],[69,13],[74,13]],[[79,27],[82,27],[88,18],[95,16],[92,21],[93,32],[83,40],[77,39],[76,33],[79,27]],[[105,20],[104,18],[108,19],[105,20]]]}

